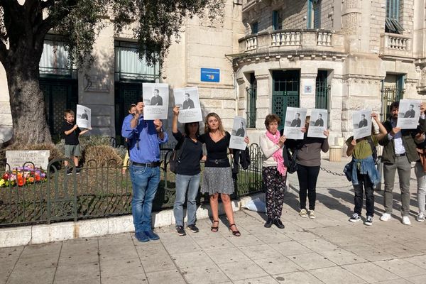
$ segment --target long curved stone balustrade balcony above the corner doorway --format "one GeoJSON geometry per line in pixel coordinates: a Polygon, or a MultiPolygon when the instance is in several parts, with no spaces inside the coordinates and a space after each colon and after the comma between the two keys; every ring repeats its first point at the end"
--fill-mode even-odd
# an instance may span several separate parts
{"type": "Polygon", "coordinates": [[[280,30],[239,39],[239,52],[275,54],[310,52],[344,53],[344,35],[329,30],[280,30]]]}

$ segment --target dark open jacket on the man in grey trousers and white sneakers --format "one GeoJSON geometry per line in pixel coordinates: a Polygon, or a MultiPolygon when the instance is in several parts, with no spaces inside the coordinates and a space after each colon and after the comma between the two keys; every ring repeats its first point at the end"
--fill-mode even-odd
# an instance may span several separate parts
{"type": "MultiPolygon", "coordinates": [[[[402,139],[403,139],[403,146],[405,148],[405,155],[407,155],[409,162],[415,162],[419,159],[419,155],[416,151],[416,144],[414,141],[415,135],[419,131],[426,131],[426,120],[425,119],[419,119],[419,126],[417,129],[402,129],[402,139]]],[[[386,120],[383,123],[383,126],[385,126],[386,131],[391,132],[392,131],[392,122],[391,119],[386,120]]],[[[388,135],[383,137],[381,141],[378,141],[378,143],[383,146],[383,153],[382,153],[382,162],[383,163],[395,163],[395,141],[394,139],[388,140],[388,135]]]]}

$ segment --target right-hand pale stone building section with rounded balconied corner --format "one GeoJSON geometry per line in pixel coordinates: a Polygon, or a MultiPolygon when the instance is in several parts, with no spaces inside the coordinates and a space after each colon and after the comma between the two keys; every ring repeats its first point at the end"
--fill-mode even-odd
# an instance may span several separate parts
{"type": "Polygon", "coordinates": [[[342,145],[353,111],[384,120],[394,100],[426,94],[425,1],[244,0],[242,9],[234,70],[253,136],[268,113],[319,108],[342,145]]]}

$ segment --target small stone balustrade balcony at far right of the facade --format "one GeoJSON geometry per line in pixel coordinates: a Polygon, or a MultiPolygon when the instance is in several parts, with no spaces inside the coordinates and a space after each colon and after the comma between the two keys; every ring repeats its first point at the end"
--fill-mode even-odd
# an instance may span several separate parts
{"type": "Polygon", "coordinates": [[[381,34],[380,55],[412,58],[413,48],[410,37],[396,33],[381,34]]]}

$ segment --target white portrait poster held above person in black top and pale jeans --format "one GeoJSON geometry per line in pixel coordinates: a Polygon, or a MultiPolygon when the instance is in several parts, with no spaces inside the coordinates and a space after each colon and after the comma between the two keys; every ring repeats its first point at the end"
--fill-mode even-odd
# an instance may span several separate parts
{"type": "Polygon", "coordinates": [[[178,121],[181,124],[202,121],[200,97],[197,87],[173,89],[175,104],[179,107],[178,121]]]}

